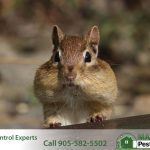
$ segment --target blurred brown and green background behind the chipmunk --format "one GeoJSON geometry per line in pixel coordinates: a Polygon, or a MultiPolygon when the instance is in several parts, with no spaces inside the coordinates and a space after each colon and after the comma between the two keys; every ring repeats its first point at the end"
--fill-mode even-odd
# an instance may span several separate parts
{"type": "Polygon", "coordinates": [[[149,0],[0,0],[0,128],[37,128],[34,74],[51,56],[52,25],[83,34],[98,25],[99,57],[116,73],[113,118],[150,114],[149,0]]]}

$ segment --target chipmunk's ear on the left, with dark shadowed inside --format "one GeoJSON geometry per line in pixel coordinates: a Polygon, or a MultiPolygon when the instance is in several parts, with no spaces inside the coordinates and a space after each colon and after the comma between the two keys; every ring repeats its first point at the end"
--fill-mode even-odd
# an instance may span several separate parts
{"type": "Polygon", "coordinates": [[[63,38],[64,33],[62,32],[62,30],[57,25],[54,25],[52,30],[52,42],[54,46],[58,47],[63,38]]]}

